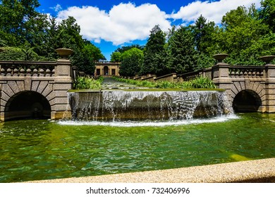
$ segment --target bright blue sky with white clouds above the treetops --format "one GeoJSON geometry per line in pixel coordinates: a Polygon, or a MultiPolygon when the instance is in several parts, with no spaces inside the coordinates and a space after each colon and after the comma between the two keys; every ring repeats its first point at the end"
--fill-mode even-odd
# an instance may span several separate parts
{"type": "Polygon", "coordinates": [[[261,0],[39,0],[37,11],[58,20],[73,16],[82,37],[101,49],[107,60],[118,47],[146,44],[154,25],[167,31],[172,25],[187,25],[202,14],[216,24],[238,6],[260,7],[261,0]]]}

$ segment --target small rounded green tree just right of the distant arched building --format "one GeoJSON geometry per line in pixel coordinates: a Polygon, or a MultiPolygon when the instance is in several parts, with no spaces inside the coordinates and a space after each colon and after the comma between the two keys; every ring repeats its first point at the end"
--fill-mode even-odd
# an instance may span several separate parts
{"type": "Polygon", "coordinates": [[[137,48],[131,48],[121,54],[121,67],[119,74],[132,77],[138,75],[143,61],[143,52],[137,48]]]}

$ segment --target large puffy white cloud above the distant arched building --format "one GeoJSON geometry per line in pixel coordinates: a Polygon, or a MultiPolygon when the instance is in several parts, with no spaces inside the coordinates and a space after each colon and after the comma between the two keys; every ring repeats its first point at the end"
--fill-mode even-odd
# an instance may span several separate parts
{"type": "Polygon", "coordinates": [[[109,13],[97,7],[74,6],[60,11],[57,18],[62,20],[69,15],[76,19],[85,39],[94,42],[104,39],[115,45],[147,39],[154,25],[159,25],[161,30],[171,28],[167,20],[169,16],[154,4],[135,6],[132,3],[121,3],[113,6],[109,13]]]}

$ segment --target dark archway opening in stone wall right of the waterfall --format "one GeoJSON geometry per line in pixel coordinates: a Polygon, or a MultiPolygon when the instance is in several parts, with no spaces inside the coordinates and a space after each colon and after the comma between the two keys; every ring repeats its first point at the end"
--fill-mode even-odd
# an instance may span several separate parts
{"type": "Polygon", "coordinates": [[[257,112],[260,106],[262,106],[261,98],[252,90],[240,91],[233,100],[235,112],[257,112]]]}

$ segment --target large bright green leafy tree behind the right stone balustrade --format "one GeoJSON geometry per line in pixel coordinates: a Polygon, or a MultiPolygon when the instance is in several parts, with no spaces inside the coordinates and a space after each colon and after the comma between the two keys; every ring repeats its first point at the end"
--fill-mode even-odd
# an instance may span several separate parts
{"type": "Polygon", "coordinates": [[[226,13],[221,22],[218,40],[220,49],[230,55],[226,61],[241,65],[255,63],[259,54],[247,52],[269,33],[268,26],[259,20],[255,6],[252,5],[248,10],[239,6],[226,13]]]}

